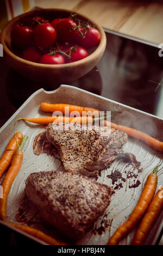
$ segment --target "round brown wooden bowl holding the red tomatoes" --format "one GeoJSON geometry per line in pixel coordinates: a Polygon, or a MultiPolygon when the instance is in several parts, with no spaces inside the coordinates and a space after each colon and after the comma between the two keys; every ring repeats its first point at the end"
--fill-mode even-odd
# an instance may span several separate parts
{"type": "MultiPolygon", "coordinates": [[[[50,20],[58,17],[68,17],[72,13],[76,12],[64,9],[38,9],[29,11],[28,13],[24,13],[20,16],[22,22],[26,22],[32,19],[34,16],[48,17],[50,20]]],[[[12,28],[17,25],[18,21],[20,21],[20,16],[17,16],[3,27],[0,36],[1,44],[3,45],[4,56],[7,58],[12,68],[14,68],[23,76],[26,76],[32,80],[49,84],[53,84],[54,82],[67,83],[75,81],[79,77],[82,77],[87,72],[89,72],[99,62],[99,59],[101,59],[104,53],[106,47],[106,36],[103,28],[96,22],[91,21],[86,16],[78,13],[76,14],[78,15],[79,19],[90,21],[101,33],[101,41],[99,45],[88,57],[82,60],[78,60],[77,62],[52,65],[34,63],[16,56],[16,54],[13,53],[11,47],[10,34],[12,28]]]]}

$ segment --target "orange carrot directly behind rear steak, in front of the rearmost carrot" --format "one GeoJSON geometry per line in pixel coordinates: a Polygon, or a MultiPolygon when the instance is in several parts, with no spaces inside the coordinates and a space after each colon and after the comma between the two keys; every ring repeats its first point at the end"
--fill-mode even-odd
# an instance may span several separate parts
{"type": "Polygon", "coordinates": [[[18,118],[18,120],[26,120],[30,123],[47,125],[54,122],[62,123],[76,123],[76,124],[87,124],[89,121],[93,120],[92,117],[42,117],[42,118],[18,118]]]}

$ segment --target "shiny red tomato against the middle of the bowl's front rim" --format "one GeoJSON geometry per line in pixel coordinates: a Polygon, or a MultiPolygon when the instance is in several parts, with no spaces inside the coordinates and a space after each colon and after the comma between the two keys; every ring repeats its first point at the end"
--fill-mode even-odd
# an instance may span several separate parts
{"type": "Polygon", "coordinates": [[[41,59],[40,63],[42,64],[65,64],[65,59],[60,53],[55,53],[54,55],[46,53],[41,59]]]}

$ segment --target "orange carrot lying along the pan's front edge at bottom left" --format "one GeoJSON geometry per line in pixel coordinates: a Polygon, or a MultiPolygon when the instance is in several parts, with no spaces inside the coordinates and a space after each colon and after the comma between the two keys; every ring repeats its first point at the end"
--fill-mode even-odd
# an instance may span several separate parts
{"type": "Polygon", "coordinates": [[[54,239],[53,237],[51,237],[49,235],[46,235],[45,233],[43,233],[39,229],[30,228],[26,225],[15,224],[15,223],[12,223],[12,222],[8,222],[8,224],[12,225],[12,227],[15,227],[17,229],[20,229],[20,230],[26,232],[27,234],[30,234],[30,235],[36,237],[37,239],[42,240],[43,242],[48,243],[49,245],[67,245],[64,242],[60,242],[60,241],[54,239]]]}

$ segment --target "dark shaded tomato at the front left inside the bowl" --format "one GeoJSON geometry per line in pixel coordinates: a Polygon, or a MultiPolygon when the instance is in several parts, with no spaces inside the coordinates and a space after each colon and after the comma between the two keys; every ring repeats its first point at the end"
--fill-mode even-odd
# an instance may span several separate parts
{"type": "Polygon", "coordinates": [[[27,59],[30,62],[39,62],[41,58],[41,53],[37,47],[28,47],[26,50],[23,51],[22,58],[27,59]]]}

